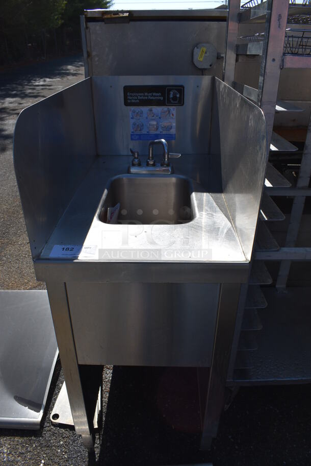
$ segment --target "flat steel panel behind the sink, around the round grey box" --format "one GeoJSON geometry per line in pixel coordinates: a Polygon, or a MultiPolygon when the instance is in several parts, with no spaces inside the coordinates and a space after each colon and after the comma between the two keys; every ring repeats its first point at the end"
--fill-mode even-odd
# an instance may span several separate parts
{"type": "MultiPolygon", "coordinates": [[[[88,22],[92,76],[201,75],[192,61],[194,47],[213,44],[224,53],[224,21],[140,20],[128,23],[88,22]]],[[[222,77],[223,60],[204,70],[222,77]]]]}

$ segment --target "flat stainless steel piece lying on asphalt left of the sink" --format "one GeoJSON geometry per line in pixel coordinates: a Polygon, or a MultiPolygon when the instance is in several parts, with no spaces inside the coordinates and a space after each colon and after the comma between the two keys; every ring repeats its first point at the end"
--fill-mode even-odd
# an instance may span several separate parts
{"type": "Polygon", "coordinates": [[[46,291],[0,291],[0,427],[39,429],[58,357],[46,291]]]}

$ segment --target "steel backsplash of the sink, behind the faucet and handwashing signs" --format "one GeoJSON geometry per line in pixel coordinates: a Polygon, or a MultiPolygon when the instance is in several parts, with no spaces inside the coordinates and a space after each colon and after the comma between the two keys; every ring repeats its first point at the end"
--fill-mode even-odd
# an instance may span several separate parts
{"type": "Polygon", "coordinates": [[[185,104],[176,107],[176,140],[170,152],[207,154],[210,137],[213,77],[98,76],[92,78],[98,155],[128,155],[129,148],[148,154],[149,141],[131,141],[129,109],[123,100],[125,85],[182,84],[185,104]]]}

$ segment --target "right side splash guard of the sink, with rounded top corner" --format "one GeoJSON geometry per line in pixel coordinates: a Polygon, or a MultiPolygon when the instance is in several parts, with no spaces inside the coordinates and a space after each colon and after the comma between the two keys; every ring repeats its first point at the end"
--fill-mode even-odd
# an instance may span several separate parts
{"type": "Polygon", "coordinates": [[[267,166],[260,108],[216,80],[213,118],[219,119],[222,188],[246,259],[250,260],[267,166]]]}

